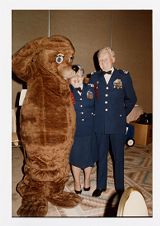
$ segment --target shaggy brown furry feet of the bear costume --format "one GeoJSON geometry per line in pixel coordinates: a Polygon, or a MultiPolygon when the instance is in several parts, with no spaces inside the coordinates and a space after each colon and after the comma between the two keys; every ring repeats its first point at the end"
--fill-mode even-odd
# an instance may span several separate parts
{"type": "Polygon", "coordinates": [[[66,208],[76,206],[81,198],[74,193],[63,191],[63,187],[62,184],[58,186],[54,182],[46,182],[45,185],[42,182],[29,182],[25,176],[17,186],[17,191],[22,196],[22,204],[17,214],[26,217],[45,216],[48,212],[48,201],[66,208]]]}

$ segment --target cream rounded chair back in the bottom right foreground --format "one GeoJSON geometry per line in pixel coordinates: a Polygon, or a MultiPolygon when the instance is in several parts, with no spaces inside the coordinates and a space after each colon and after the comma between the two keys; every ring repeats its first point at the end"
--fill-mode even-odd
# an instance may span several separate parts
{"type": "Polygon", "coordinates": [[[122,216],[148,216],[144,197],[138,189],[129,187],[123,192],[117,210],[117,217],[122,216]]]}

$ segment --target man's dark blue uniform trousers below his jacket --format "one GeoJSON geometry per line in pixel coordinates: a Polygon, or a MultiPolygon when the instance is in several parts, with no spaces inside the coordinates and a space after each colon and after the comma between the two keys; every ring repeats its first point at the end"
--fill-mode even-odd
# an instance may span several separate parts
{"type": "Polygon", "coordinates": [[[97,188],[106,189],[107,185],[107,160],[111,151],[113,160],[113,174],[116,191],[124,190],[124,134],[96,134],[98,148],[97,162],[97,188]]]}

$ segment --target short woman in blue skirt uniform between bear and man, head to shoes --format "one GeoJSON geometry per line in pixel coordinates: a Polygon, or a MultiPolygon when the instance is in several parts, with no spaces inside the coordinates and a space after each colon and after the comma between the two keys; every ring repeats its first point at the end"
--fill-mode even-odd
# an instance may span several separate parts
{"type": "Polygon", "coordinates": [[[76,111],[76,132],[70,153],[74,189],[81,194],[80,173],[84,171],[84,191],[90,190],[90,174],[96,161],[94,138],[94,89],[84,83],[84,70],[78,65],[76,76],[70,79],[76,111]]]}

